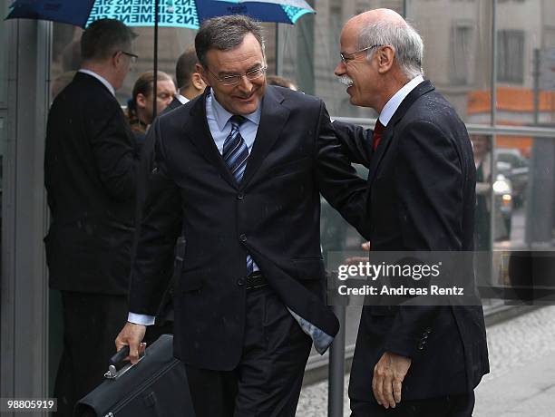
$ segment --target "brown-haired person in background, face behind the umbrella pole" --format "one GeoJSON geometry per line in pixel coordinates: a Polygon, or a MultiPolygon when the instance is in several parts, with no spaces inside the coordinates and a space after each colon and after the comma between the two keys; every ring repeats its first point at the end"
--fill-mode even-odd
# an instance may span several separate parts
{"type": "MultiPolygon", "coordinates": [[[[127,103],[127,118],[135,139],[142,143],[146,136],[147,128],[154,119],[154,72],[141,73],[135,84],[130,101],[127,103]]],[[[167,73],[158,72],[156,82],[156,114],[160,114],[175,95],[175,84],[167,73]]]]}

